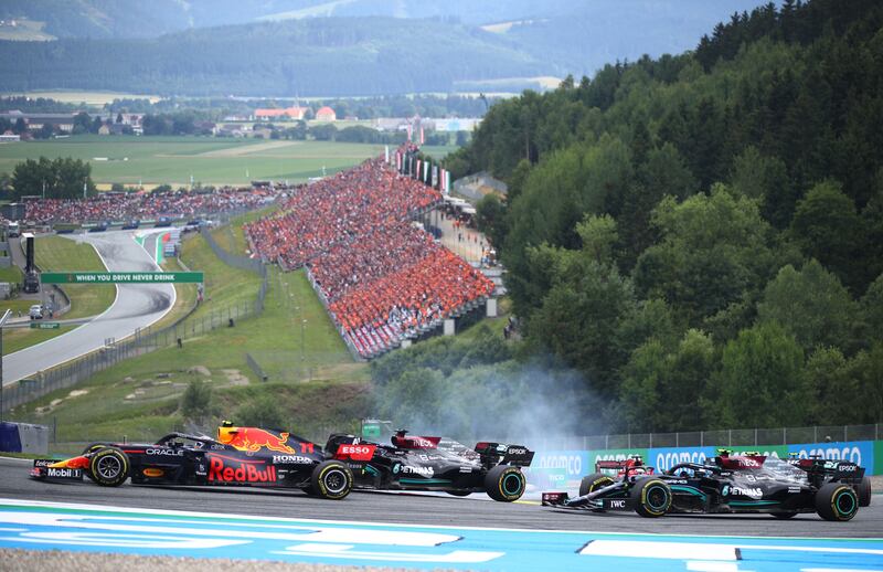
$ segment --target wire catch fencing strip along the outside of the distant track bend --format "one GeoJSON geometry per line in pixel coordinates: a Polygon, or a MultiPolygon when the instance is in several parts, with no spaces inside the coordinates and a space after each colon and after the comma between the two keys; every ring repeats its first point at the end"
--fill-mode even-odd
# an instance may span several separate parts
{"type": "Polygon", "coordinates": [[[175,345],[181,347],[187,340],[202,337],[216,328],[232,327],[238,320],[259,315],[264,310],[268,288],[266,266],[260,261],[224,251],[206,229],[202,230],[202,236],[225,264],[260,275],[260,286],[254,299],[242,299],[204,311],[198,311],[200,310],[198,303],[171,325],[139,329],[125,340],[108,339],[105,346],[96,351],[56,368],[38,372],[12,386],[3,388],[3,409],[12,409],[55,390],[75,385],[123,360],[175,345]]]}

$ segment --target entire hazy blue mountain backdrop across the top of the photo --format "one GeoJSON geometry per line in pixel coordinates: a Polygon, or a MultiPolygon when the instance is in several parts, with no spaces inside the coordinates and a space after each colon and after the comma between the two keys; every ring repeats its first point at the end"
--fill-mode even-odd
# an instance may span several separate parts
{"type": "Polygon", "coordinates": [[[3,0],[0,19],[39,30],[15,38],[58,40],[0,41],[0,73],[4,91],[520,91],[539,87],[528,77],[579,77],[616,60],[683,52],[758,2],[3,0]]]}

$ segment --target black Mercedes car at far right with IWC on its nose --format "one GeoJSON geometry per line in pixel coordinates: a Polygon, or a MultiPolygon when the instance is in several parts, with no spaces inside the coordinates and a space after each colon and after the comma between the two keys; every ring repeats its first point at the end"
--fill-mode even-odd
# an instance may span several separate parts
{"type": "Polygon", "coordinates": [[[662,474],[640,457],[598,462],[583,478],[579,496],[543,492],[543,506],[592,511],[635,510],[642,517],[673,512],[765,512],[787,519],[818,512],[826,520],[852,519],[871,502],[864,468],[849,460],[719,456],[703,464],[682,463],[662,474]],[[616,470],[608,475],[602,470],[616,470]]]}

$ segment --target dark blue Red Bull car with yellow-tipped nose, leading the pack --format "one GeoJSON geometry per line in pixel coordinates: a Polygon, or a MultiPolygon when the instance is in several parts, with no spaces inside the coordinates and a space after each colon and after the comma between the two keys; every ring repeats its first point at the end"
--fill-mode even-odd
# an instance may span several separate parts
{"type": "Polygon", "coordinates": [[[235,427],[224,422],[217,437],[170,433],[152,444],[94,443],[65,460],[36,459],[31,476],[98,485],[234,485],[291,487],[342,499],[353,486],[345,463],[288,433],[235,427]]]}

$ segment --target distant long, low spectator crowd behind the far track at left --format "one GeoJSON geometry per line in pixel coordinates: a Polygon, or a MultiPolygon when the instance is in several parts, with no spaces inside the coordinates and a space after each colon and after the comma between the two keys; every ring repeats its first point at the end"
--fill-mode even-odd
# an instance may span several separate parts
{"type": "Polygon", "coordinates": [[[25,202],[24,218],[35,224],[193,218],[254,209],[280,190],[230,188],[200,191],[98,193],[87,199],[36,199],[25,202]]]}

